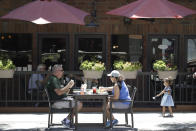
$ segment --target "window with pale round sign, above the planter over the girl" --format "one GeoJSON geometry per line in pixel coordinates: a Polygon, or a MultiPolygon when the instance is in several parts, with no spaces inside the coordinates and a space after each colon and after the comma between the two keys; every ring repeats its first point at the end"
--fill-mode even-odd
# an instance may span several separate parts
{"type": "Polygon", "coordinates": [[[164,60],[173,65],[177,65],[177,36],[150,36],[150,48],[151,51],[151,66],[156,60],[164,60]]]}

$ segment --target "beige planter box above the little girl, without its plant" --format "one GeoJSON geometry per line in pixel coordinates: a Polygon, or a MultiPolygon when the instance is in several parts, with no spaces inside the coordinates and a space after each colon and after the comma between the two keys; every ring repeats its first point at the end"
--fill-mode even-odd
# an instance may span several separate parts
{"type": "Polygon", "coordinates": [[[177,71],[158,71],[158,75],[160,79],[171,77],[172,79],[176,79],[178,72],[177,71]]]}

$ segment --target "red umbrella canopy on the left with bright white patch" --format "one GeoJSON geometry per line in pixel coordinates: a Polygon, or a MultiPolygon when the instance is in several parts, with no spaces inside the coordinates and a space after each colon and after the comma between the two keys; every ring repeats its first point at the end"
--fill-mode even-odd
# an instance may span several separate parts
{"type": "Polygon", "coordinates": [[[35,24],[72,23],[84,25],[84,17],[87,15],[89,13],[58,0],[36,0],[1,18],[25,20],[35,24]]]}

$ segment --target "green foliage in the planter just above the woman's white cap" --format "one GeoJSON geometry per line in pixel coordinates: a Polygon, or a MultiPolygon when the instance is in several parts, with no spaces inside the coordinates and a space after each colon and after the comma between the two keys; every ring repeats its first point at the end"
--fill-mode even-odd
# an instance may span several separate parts
{"type": "Polygon", "coordinates": [[[116,70],[122,70],[122,71],[135,71],[142,69],[142,64],[140,62],[128,62],[128,61],[115,61],[114,69],[116,70]]]}

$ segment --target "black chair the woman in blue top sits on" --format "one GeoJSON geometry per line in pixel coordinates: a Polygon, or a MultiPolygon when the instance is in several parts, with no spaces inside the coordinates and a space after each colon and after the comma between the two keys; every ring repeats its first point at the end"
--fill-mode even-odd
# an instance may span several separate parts
{"type": "MultiPolygon", "coordinates": [[[[112,113],[125,113],[125,122],[126,124],[118,124],[118,126],[127,126],[134,128],[134,120],[133,120],[133,103],[137,88],[135,86],[127,85],[129,89],[129,93],[131,96],[131,100],[111,100],[110,101],[110,120],[112,119],[112,113]],[[117,109],[112,108],[112,102],[130,102],[129,108],[127,109],[117,109]],[[131,126],[128,125],[128,113],[131,113],[131,126]]],[[[110,127],[112,128],[112,121],[110,121],[110,127]]]]}

